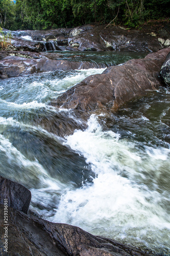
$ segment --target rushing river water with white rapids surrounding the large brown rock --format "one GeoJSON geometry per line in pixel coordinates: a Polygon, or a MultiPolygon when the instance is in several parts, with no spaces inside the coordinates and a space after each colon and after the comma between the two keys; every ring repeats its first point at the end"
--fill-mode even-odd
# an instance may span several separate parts
{"type": "Polygon", "coordinates": [[[44,219],[170,255],[170,89],[117,114],[92,114],[84,129],[80,116],[48,105],[103,71],[0,81],[0,175],[28,187],[31,209],[44,219]],[[80,129],[55,133],[71,122],[80,129]]]}

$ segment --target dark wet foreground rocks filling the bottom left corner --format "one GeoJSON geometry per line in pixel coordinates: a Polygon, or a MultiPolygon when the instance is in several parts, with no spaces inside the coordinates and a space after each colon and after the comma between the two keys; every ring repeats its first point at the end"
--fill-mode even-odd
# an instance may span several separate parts
{"type": "Polygon", "coordinates": [[[30,191],[2,176],[0,189],[1,255],[154,255],[151,251],[142,251],[111,239],[93,236],[79,227],[48,222],[30,211],[26,214],[31,201],[30,191]],[[8,202],[7,223],[4,222],[4,200],[8,202]],[[6,245],[4,224],[8,224],[6,245]]]}

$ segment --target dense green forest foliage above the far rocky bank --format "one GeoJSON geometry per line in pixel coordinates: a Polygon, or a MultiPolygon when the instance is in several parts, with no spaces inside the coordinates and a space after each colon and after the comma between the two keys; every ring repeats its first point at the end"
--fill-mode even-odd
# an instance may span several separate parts
{"type": "Polygon", "coordinates": [[[170,0],[0,0],[0,26],[41,30],[110,23],[134,28],[168,18],[169,6],[170,0]]]}

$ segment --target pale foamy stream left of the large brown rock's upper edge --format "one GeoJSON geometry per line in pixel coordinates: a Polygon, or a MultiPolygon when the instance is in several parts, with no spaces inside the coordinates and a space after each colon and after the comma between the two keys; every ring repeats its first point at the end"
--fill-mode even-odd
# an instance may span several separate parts
{"type": "Polygon", "coordinates": [[[102,73],[104,70],[105,69],[76,70],[62,79],[59,79],[57,75],[55,79],[52,79],[51,74],[53,74],[53,72],[48,72],[50,77],[49,79],[43,78],[43,76],[46,78],[45,75],[47,75],[47,73],[44,73],[43,75],[40,75],[39,79],[41,81],[30,82],[29,79],[28,81],[19,80],[18,88],[12,84],[11,86],[8,84],[9,90],[6,90],[6,92],[2,92],[1,90],[3,100],[7,98],[6,101],[8,102],[27,105],[31,102],[39,104],[46,103],[54,98],[56,99],[61,93],[65,92],[68,88],[74,86],[76,83],[82,81],[90,74],[102,73]]]}

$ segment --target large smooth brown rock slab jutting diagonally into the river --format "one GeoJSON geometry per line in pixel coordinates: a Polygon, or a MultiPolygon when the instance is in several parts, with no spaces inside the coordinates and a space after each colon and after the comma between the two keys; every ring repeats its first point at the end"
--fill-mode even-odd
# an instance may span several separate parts
{"type": "Polygon", "coordinates": [[[156,90],[161,85],[158,75],[170,48],[132,59],[122,66],[107,68],[68,89],[52,105],[68,109],[93,111],[117,110],[124,103],[156,90]]]}

